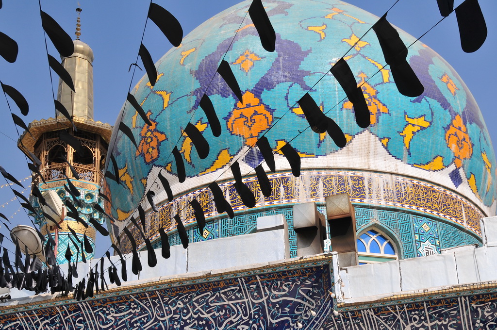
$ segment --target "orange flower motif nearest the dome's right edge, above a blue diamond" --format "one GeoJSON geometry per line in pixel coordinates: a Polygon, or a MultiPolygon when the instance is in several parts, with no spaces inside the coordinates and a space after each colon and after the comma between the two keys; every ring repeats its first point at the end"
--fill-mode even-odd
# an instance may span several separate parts
{"type": "Polygon", "coordinates": [[[447,146],[454,153],[454,164],[457,168],[463,165],[463,160],[470,158],[473,154],[473,145],[464,126],[461,116],[457,115],[445,133],[447,146]]]}

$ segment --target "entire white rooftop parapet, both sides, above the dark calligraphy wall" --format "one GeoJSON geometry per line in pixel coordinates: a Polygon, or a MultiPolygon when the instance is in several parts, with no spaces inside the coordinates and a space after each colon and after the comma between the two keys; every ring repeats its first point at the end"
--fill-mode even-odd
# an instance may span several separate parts
{"type": "MultiPolygon", "coordinates": [[[[482,220],[484,241],[480,248],[475,245],[455,247],[445,249],[441,254],[342,269],[336,252],[289,258],[288,227],[282,215],[260,217],[257,222],[258,231],[253,234],[191,243],[186,249],[172,246],[168,259],[161,257],[160,248],[156,249],[158,264],[154,268],[147,265],[147,251],[140,251],[143,270],[135,275],[128,267],[127,282],[120,287],[109,285],[109,289],[98,296],[125,293],[130,289],[146,291],[168,283],[176,286],[192,280],[203,282],[226,276],[242,277],[248,272],[253,274],[274,267],[316,261],[331,263],[337,308],[343,310],[350,306],[365,308],[373,302],[398,304],[405,299],[423,301],[432,299],[434,295],[452,297],[497,288],[497,217],[482,220]]],[[[119,256],[111,256],[111,260],[118,264],[119,256]]],[[[100,259],[80,263],[80,278],[75,278],[73,283],[81,280],[89,267],[95,267],[98,262],[100,259]]],[[[109,265],[105,258],[104,268],[109,265]]],[[[18,311],[48,300],[70,301],[72,295],[40,294],[14,298],[0,304],[0,311],[18,311]]]]}

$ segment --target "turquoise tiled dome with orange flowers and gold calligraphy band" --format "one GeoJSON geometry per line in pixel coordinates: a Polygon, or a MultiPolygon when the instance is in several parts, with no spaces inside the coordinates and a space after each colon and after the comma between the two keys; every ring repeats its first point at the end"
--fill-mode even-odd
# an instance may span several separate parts
{"type": "MultiPolygon", "coordinates": [[[[378,17],[335,0],[263,1],[276,32],[276,51],[270,53],[262,48],[250,17],[245,17],[250,2],[212,17],[168,51],[156,64],[159,78],[154,87],[147,77],[137,84],[133,94],[152,125],[145,125],[129,104],[121,110],[117,123],[122,119],[131,127],[138,150],[114,128],[116,142],[109,149],[122,184],[109,179],[105,183],[113,201],[108,209],[115,218],[109,224],[113,235],[151,189],[160,212],[147,215],[149,236],[157,237],[161,227],[173,233],[171,218],[179,213],[187,228],[191,227],[194,237],[190,240],[222,237],[227,229],[221,227],[228,226],[222,224],[226,214],[216,213],[206,190],[216,181],[228,188],[226,196],[242,223],[284,207],[291,210],[294,203],[323,205],[325,196],[347,192],[356,207],[358,230],[376,221],[399,241],[412,242],[411,248],[401,247],[406,257],[426,253],[422,250],[426,244],[439,251],[478,242],[479,219],[495,214],[496,158],[478,105],[454,69],[428,46],[416,42],[409,48],[408,61],[424,93],[414,98],[401,95],[389,67],[382,69],[385,60],[376,34],[368,31],[378,17]],[[357,83],[364,83],[371,113],[366,129],[355,123],[351,102],[329,73],[342,56],[357,83]],[[240,85],[242,102],[216,74],[223,57],[240,85]],[[296,101],[309,89],[343,130],[347,138],[343,149],[326,133],[307,129],[296,101]],[[220,137],[213,136],[199,107],[204,93],[220,119],[220,137]],[[204,160],[182,135],[189,122],[210,144],[204,160]],[[276,154],[277,171],[269,176],[273,193],[268,198],[262,196],[253,171],[262,156],[251,148],[263,134],[275,151],[291,141],[302,160],[302,174],[295,178],[286,159],[276,154]],[[178,182],[171,155],[175,146],[186,167],[183,183],[178,182]],[[231,186],[229,166],[236,160],[256,196],[255,208],[244,207],[231,186]],[[171,184],[172,202],[167,201],[157,179],[161,170],[171,184]],[[188,206],[192,198],[201,201],[208,223],[218,221],[207,234],[193,230],[195,219],[188,206]],[[403,220],[406,217],[409,221],[403,220]],[[402,226],[411,227],[403,231],[402,226]]],[[[414,42],[411,35],[399,33],[406,45],[414,42]]],[[[249,226],[244,228],[234,230],[250,231],[249,226]]]]}

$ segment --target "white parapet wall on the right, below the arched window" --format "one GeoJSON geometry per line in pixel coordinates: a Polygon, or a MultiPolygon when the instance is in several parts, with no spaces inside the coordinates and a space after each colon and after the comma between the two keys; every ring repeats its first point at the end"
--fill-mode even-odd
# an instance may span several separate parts
{"type": "MultiPolygon", "coordinates": [[[[359,304],[481,282],[497,282],[497,217],[482,220],[483,246],[441,254],[345,267],[334,272],[337,301],[359,304]]],[[[333,269],[339,269],[337,258],[333,269]]]]}

